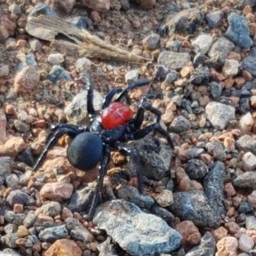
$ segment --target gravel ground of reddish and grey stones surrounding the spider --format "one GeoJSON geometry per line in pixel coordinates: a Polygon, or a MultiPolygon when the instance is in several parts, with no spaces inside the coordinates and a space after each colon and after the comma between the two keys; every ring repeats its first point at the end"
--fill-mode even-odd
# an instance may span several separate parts
{"type": "Polygon", "coordinates": [[[0,256],[255,256],[256,1],[110,2],[0,0],[0,256]],[[88,123],[89,74],[97,111],[113,86],[152,79],[132,108],[155,95],[175,144],[129,143],[143,195],[112,152],[93,222],[97,170],[68,163],[67,136],[31,168],[49,125],[88,123]]]}

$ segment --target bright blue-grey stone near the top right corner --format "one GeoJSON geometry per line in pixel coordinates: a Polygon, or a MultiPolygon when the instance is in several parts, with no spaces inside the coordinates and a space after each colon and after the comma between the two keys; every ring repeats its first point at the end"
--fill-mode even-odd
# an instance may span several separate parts
{"type": "Polygon", "coordinates": [[[235,13],[232,12],[228,16],[229,27],[225,34],[227,38],[232,41],[234,44],[239,45],[245,49],[252,47],[253,40],[250,38],[250,31],[247,20],[235,13]]]}

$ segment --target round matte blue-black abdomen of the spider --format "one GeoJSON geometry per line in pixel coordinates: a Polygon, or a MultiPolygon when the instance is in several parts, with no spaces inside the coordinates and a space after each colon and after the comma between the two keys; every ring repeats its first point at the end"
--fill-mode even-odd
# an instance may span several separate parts
{"type": "Polygon", "coordinates": [[[100,137],[91,132],[83,132],[68,145],[67,157],[70,164],[86,172],[97,166],[102,152],[103,144],[100,137]]]}

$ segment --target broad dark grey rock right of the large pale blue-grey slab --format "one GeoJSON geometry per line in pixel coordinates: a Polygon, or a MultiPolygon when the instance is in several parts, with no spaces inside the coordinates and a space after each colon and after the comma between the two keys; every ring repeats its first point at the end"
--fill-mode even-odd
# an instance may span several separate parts
{"type": "Polygon", "coordinates": [[[173,193],[173,204],[168,207],[180,220],[191,220],[198,227],[218,227],[220,219],[216,216],[204,191],[184,191],[173,193]]]}

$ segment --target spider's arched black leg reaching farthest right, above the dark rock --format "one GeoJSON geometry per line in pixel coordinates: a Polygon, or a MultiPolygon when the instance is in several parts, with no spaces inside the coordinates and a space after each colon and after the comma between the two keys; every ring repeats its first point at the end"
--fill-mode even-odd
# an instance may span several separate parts
{"type": "Polygon", "coordinates": [[[127,139],[129,138],[128,140],[140,140],[140,139],[144,138],[145,136],[147,136],[148,133],[154,132],[154,131],[159,132],[162,136],[164,136],[166,138],[166,140],[168,141],[168,144],[170,145],[170,147],[172,149],[174,148],[174,145],[173,145],[173,142],[172,142],[172,139],[171,139],[169,133],[167,131],[165,131],[157,123],[147,125],[143,129],[133,132],[130,136],[127,136],[127,139]]]}

